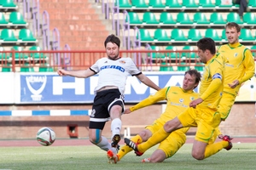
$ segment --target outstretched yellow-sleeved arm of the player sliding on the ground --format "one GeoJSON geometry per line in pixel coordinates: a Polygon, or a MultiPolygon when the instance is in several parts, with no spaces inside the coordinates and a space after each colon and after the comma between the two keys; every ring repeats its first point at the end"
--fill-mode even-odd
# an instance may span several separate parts
{"type": "Polygon", "coordinates": [[[148,105],[153,105],[156,102],[166,99],[166,90],[167,90],[167,88],[162,88],[162,89],[160,89],[160,91],[156,92],[154,95],[149,95],[148,98],[143,99],[137,105],[130,107],[128,109],[128,111],[125,111],[125,113],[127,114],[132,111],[137,111],[138,109],[141,109],[148,105]]]}

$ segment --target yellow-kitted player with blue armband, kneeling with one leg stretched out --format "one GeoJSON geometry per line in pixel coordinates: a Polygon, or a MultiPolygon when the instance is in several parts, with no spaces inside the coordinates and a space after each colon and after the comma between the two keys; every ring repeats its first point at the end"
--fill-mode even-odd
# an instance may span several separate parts
{"type": "Polygon", "coordinates": [[[232,143],[229,136],[224,136],[224,141],[210,143],[215,128],[221,122],[218,104],[223,93],[224,58],[216,54],[215,42],[204,37],[197,42],[198,56],[205,64],[202,75],[200,97],[189,103],[189,108],[172,120],[165,123],[147,142],[137,144],[130,139],[125,139],[125,144],[135,150],[137,156],[155,144],[166,139],[172,132],[182,127],[197,127],[192,148],[192,156],[197,160],[205,159],[219,150],[230,150],[232,143]]]}

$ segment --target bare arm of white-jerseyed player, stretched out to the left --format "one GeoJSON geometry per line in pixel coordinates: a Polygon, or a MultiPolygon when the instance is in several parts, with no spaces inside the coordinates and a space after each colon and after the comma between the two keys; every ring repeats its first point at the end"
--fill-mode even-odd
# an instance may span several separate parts
{"type": "Polygon", "coordinates": [[[86,78],[90,77],[96,74],[95,71],[92,71],[89,69],[83,70],[83,71],[66,71],[63,69],[60,69],[57,71],[57,73],[62,76],[70,76],[70,77],[79,77],[79,78],[86,78]]]}

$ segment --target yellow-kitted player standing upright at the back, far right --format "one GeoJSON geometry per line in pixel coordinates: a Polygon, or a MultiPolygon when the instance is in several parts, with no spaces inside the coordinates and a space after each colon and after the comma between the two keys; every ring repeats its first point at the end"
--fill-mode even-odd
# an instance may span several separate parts
{"type": "Polygon", "coordinates": [[[218,48],[218,53],[227,60],[224,70],[224,94],[218,108],[223,121],[230,114],[241,84],[252,78],[255,71],[253,54],[238,42],[241,35],[240,26],[230,22],[225,26],[225,31],[229,43],[218,48]]]}

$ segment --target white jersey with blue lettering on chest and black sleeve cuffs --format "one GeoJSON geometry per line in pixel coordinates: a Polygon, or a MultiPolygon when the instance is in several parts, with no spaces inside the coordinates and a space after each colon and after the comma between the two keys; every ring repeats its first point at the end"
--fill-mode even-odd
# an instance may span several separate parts
{"type": "Polygon", "coordinates": [[[99,73],[98,84],[95,93],[105,86],[116,86],[121,94],[125,93],[126,79],[129,75],[137,76],[141,71],[131,60],[131,58],[120,58],[116,60],[102,58],[98,59],[90,70],[99,73]]]}

